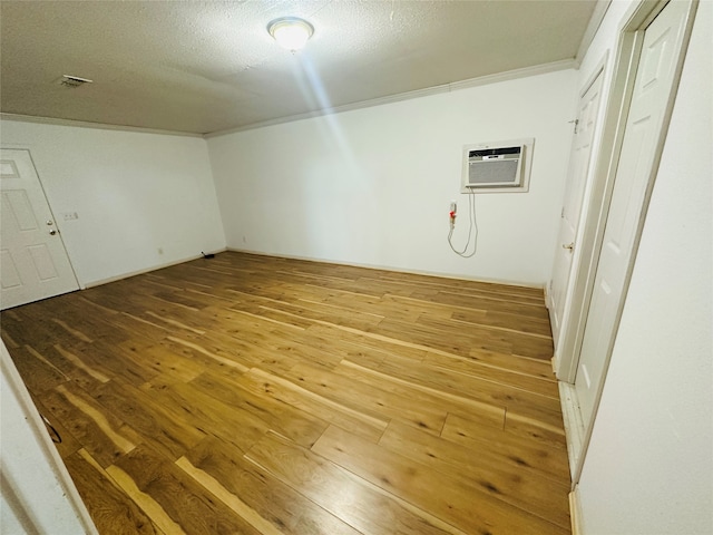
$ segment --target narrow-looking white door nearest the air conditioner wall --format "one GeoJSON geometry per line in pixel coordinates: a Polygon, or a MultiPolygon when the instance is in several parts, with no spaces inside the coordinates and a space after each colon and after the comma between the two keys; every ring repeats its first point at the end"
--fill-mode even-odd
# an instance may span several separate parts
{"type": "Polygon", "coordinates": [[[572,142],[572,152],[569,154],[565,201],[561,208],[559,234],[557,237],[558,246],[555,252],[555,265],[553,268],[553,279],[549,286],[549,318],[553,328],[555,350],[557,350],[559,346],[559,333],[563,327],[563,319],[565,318],[565,307],[568,304],[572,259],[576,249],[575,239],[577,236],[577,227],[579,226],[582,195],[589,174],[592,142],[597,125],[603,77],[603,72],[599,71],[589,88],[579,99],[577,106],[575,137],[572,142]]]}

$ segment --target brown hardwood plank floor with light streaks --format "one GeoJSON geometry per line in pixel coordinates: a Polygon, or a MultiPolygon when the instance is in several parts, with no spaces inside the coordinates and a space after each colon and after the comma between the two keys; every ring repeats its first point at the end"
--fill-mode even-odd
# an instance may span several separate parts
{"type": "Polygon", "coordinates": [[[541,291],[222,253],[1,314],[102,534],[565,534],[541,291]]]}

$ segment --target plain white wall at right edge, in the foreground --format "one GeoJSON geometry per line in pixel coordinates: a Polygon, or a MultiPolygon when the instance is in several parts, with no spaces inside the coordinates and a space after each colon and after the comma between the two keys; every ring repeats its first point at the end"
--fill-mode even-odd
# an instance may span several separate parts
{"type": "Polygon", "coordinates": [[[701,2],[579,483],[587,535],[713,533],[712,20],[701,2]]]}

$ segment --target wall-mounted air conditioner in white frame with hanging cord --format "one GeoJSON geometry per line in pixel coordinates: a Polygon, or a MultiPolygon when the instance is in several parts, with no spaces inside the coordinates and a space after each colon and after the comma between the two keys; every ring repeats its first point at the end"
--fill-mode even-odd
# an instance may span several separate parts
{"type": "Polygon", "coordinates": [[[535,139],[463,147],[461,193],[527,192],[535,139]]]}

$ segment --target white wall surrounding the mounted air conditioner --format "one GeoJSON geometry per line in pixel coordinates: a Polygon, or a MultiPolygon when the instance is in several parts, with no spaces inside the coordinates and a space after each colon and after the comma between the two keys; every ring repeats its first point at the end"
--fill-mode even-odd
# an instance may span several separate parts
{"type": "MultiPolygon", "coordinates": [[[[208,139],[228,247],[544,285],[554,257],[576,72],[531,76],[208,139]],[[529,193],[460,195],[465,144],[534,137],[529,193]]],[[[296,95],[295,98],[301,98],[296,95]]]]}

